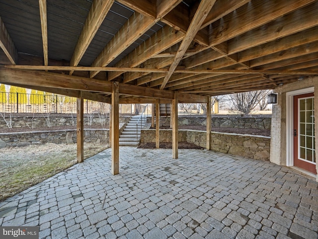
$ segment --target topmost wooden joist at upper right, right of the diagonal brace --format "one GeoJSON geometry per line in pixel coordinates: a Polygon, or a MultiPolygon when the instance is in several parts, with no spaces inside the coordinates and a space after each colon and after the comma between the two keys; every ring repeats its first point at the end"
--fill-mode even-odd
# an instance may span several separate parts
{"type": "MultiPolygon", "coordinates": [[[[209,43],[215,46],[244,32],[273,21],[315,0],[252,1],[211,24],[209,43]],[[239,26],[238,27],[238,23],[239,26]]],[[[267,31],[266,31],[267,32],[267,31]]]]}

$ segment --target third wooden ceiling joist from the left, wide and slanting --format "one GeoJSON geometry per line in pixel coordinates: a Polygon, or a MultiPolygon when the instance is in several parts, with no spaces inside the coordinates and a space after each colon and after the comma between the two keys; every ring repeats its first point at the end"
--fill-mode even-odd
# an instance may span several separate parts
{"type": "MultiPolygon", "coordinates": [[[[70,66],[79,64],[113,3],[114,0],[93,0],[71,57],[70,66]]],[[[72,74],[73,71],[70,71],[70,75],[72,74]]]]}

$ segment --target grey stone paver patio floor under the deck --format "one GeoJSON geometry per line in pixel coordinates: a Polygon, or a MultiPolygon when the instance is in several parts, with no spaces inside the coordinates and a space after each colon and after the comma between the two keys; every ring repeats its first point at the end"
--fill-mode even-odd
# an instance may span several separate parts
{"type": "Polygon", "coordinates": [[[207,150],[111,149],[0,203],[0,226],[41,239],[317,239],[318,182],[207,150]]]}

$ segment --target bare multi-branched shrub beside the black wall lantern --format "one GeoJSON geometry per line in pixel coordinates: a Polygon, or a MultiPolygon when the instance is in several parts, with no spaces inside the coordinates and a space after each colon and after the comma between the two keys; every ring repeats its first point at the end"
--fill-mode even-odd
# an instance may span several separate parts
{"type": "Polygon", "coordinates": [[[267,90],[249,91],[229,95],[231,111],[239,114],[248,115],[266,97],[267,90]]]}

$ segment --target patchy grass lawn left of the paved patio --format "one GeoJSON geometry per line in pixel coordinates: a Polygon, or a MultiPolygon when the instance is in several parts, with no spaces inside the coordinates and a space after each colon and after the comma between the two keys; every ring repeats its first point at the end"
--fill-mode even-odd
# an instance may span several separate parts
{"type": "MultiPolygon", "coordinates": [[[[84,158],[107,145],[84,143],[84,158]]],[[[77,163],[76,144],[30,145],[0,149],[0,202],[77,163]]]]}

